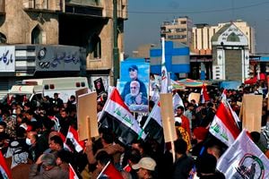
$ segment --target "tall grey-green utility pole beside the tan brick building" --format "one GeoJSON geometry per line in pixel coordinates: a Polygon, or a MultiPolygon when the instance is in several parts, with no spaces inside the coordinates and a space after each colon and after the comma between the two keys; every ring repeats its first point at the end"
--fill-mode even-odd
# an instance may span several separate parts
{"type": "Polygon", "coordinates": [[[119,78],[119,54],[117,47],[117,0],[113,0],[113,37],[114,37],[114,47],[113,47],[113,81],[114,86],[117,87],[117,79],[119,78]]]}

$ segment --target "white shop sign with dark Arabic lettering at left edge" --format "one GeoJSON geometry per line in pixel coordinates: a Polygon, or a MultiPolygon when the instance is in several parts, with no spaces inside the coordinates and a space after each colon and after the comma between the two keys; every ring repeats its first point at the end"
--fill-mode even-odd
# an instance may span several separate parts
{"type": "Polygon", "coordinates": [[[0,47],[0,72],[15,72],[15,47],[0,47]]]}

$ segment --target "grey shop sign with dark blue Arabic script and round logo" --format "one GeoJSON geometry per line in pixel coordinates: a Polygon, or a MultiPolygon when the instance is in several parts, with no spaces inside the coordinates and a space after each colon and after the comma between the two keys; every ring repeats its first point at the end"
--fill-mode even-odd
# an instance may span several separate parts
{"type": "Polygon", "coordinates": [[[80,47],[40,46],[36,49],[36,71],[80,71],[80,47]]]}

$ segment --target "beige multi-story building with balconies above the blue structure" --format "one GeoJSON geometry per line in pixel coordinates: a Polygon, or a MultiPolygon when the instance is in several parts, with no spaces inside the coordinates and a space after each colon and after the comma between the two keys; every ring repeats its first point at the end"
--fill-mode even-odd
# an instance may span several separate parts
{"type": "Polygon", "coordinates": [[[178,17],[173,21],[163,21],[161,37],[173,42],[180,42],[192,47],[192,21],[186,17],[178,17]]]}

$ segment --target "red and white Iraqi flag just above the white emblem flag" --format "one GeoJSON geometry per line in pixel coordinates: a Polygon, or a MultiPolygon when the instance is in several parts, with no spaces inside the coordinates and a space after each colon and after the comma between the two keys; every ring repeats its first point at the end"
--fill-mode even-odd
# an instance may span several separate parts
{"type": "Polygon", "coordinates": [[[228,147],[239,136],[239,127],[235,123],[230,107],[227,107],[225,103],[221,102],[220,107],[217,109],[213,122],[210,125],[209,132],[228,147]]]}

